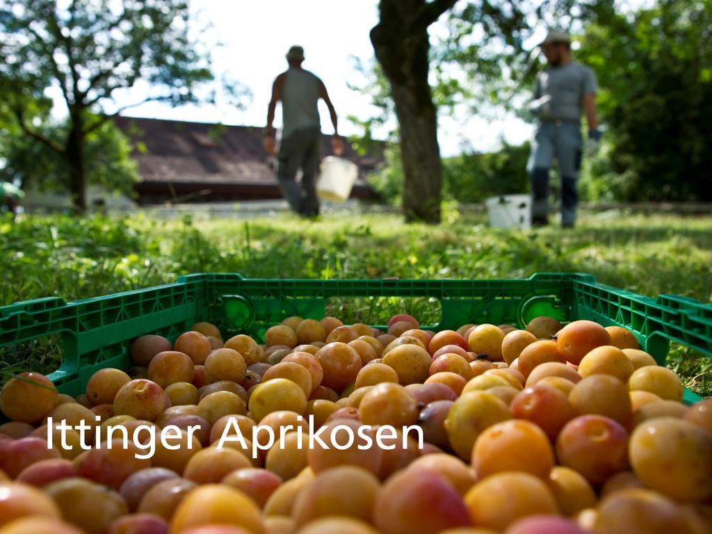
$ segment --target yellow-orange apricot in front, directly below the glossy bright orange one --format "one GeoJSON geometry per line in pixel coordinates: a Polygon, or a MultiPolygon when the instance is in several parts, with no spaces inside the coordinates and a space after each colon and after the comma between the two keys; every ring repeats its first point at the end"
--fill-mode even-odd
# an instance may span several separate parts
{"type": "Polygon", "coordinates": [[[529,473],[496,473],[478,481],[465,495],[474,525],[502,531],[520,518],[558,513],[544,481],[529,473]]]}

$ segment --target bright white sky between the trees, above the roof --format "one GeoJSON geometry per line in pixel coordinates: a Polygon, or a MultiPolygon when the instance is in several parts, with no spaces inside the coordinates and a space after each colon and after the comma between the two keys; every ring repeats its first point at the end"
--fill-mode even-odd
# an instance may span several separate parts
{"type": "MultiPolygon", "coordinates": [[[[303,67],[318,75],[328,89],[340,116],[340,134],[358,134],[358,127],[346,117],[372,115],[370,98],[350,90],[347,82],[359,80],[353,56],[365,63],[374,61],[369,32],[378,21],[377,4],[377,0],[192,0],[195,19],[211,25],[208,38],[222,43],[211,50],[216,76],[239,80],[251,90],[251,100],[242,110],[219,100],[217,105],[179,108],[146,103],[122,114],[263,127],[272,82],[286,68],[284,56],[288,48],[299,44],[305,49],[303,67]]],[[[432,31],[437,29],[431,27],[432,31]]],[[[138,83],[131,90],[117,93],[116,103],[136,103],[149,90],[145,83],[138,83]]],[[[112,110],[111,105],[105,105],[106,112],[112,110]]],[[[323,102],[320,115],[323,132],[333,132],[323,102]]],[[[470,113],[458,115],[458,120],[439,118],[438,137],[444,156],[461,153],[464,145],[481,152],[496,150],[501,137],[519,144],[532,134],[530,125],[511,115],[500,115],[495,120],[470,113]]],[[[280,125],[278,110],[275,126],[280,125]]]]}

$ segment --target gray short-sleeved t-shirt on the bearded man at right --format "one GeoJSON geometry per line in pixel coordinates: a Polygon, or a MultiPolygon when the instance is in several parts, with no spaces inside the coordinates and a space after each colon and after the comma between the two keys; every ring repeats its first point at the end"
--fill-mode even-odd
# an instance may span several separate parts
{"type": "Polygon", "coordinates": [[[550,95],[550,112],[541,116],[542,120],[581,120],[584,95],[597,93],[596,75],[581,63],[567,63],[560,67],[549,67],[538,73],[534,98],[550,95]]]}

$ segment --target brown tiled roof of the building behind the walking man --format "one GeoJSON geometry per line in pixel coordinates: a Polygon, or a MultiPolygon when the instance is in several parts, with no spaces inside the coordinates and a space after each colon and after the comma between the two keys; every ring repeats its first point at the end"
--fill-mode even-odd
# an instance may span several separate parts
{"type": "MultiPolygon", "coordinates": [[[[274,172],[262,147],[262,128],[202,122],[116,117],[116,125],[135,145],[132,153],[144,182],[204,184],[274,183],[274,172]]],[[[323,137],[322,155],[331,154],[323,137]]],[[[360,157],[347,143],[343,157],[359,168],[359,182],[382,162],[360,157]]]]}

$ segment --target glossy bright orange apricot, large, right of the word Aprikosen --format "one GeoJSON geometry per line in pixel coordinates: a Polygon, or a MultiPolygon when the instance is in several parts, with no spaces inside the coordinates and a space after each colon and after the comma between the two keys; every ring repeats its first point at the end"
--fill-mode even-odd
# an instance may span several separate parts
{"type": "Polygon", "coordinates": [[[554,466],[554,451],[537,425],[511,419],[482,431],[472,449],[472,466],[479,480],[503,471],[522,471],[546,479],[554,466]]]}

